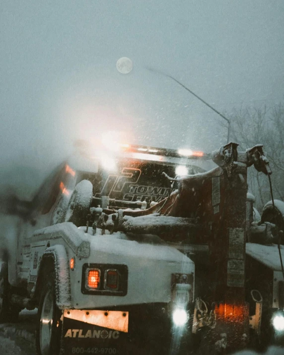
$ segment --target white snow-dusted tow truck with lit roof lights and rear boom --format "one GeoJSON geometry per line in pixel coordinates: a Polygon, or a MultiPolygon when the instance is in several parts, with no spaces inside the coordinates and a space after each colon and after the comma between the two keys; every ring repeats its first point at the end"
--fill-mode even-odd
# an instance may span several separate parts
{"type": "Polygon", "coordinates": [[[269,175],[269,162],[261,145],[237,145],[121,144],[65,161],[31,202],[9,204],[18,222],[1,253],[0,320],[38,307],[39,355],[224,353],[281,339],[282,205],[254,221],[247,168],[269,175]]]}

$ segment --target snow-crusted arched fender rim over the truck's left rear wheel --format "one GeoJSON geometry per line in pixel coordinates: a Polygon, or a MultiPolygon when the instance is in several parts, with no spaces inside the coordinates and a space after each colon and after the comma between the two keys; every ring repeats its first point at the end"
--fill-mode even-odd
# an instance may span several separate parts
{"type": "Polygon", "coordinates": [[[71,307],[71,287],[68,256],[64,245],[48,247],[40,261],[34,296],[39,299],[46,268],[54,268],[56,280],[56,304],[58,308],[71,307]]]}

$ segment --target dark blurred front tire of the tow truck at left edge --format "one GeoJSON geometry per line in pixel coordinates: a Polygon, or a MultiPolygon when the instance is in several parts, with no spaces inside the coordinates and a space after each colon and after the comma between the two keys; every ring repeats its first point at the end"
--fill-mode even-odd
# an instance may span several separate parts
{"type": "Polygon", "coordinates": [[[20,308],[10,303],[9,291],[8,268],[4,264],[0,271],[0,323],[16,322],[20,313],[20,308]]]}

